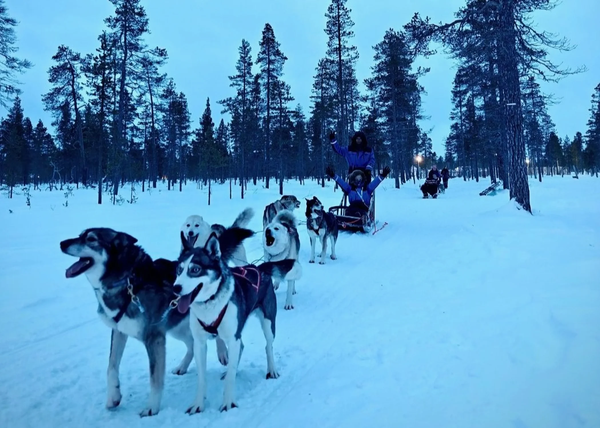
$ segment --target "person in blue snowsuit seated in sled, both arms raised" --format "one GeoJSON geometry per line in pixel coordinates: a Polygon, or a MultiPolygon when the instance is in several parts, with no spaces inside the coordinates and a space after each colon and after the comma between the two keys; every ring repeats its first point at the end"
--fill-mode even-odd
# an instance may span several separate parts
{"type": "Polygon", "coordinates": [[[350,206],[346,208],[346,215],[362,217],[369,211],[373,192],[377,186],[388,177],[389,166],[385,166],[382,173],[379,174],[379,177],[375,178],[371,183],[367,183],[367,177],[360,169],[356,169],[349,175],[348,183],[346,183],[339,175],[335,174],[335,171],[331,166],[328,166],[325,169],[325,172],[329,177],[335,180],[341,187],[341,190],[348,196],[350,206]]]}

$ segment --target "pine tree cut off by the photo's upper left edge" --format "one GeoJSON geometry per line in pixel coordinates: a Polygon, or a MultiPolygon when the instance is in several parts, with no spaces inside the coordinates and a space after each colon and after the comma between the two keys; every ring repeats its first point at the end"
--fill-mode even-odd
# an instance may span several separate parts
{"type": "Polygon", "coordinates": [[[4,0],[0,0],[0,106],[4,108],[8,108],[13,96],[20,93],[16,74],[32,66],[28,60],[14,56],[19,50],[15,45],[17,35],[14,31],[18,24],[16,19],[8,16],[4,0]]]}

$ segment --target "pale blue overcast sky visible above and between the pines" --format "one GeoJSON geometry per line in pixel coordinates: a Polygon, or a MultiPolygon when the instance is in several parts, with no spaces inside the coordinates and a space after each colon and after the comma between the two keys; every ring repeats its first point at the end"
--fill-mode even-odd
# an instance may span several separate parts
{"type": "MultiPolygon", "coordinates": [[[[25,114],[37,122],[51,119],[43,110],[41,95],[49,90],[47,69],[60,44],[81,53],[97,47],[97,36],[104,28],[103,19],[113,12],[108,0],[7,0],[11,16],[19,20],[19,56],[35,66],[21,77],[25,114]]],[[[328,0],[146,0],[152,34],[149,45],[169,51],[164,70],[175,79],[179,90],[187,95],[194,126],[210,97],[215,122],[218,122],[219,99],[232,95],[227,76],[233,74],[242,38],[252,45],[256,59],[263,26],[271,23],[281,49],[289,58],[284,67],[284,80],[292,87],[292,95],[308,113],[314,68],[326,49],[325,11],[328,0]]],[[[415,11],[434,21],[450,20],[464,0],[349,0],[355,22],[354,43],[360,58],[359,80],[370,75],[373,45],[382,40],[389,28],[401,29],[415,11]]],[[[566,0],[551,12],[536,18],[539,28],[558,32],[578,45],[569,53],[552,52],[551,57],[576,68],[586,65],[589,71],[566,78],[559,84],[542,86],[560,98],[550,108],[560,136],[584,132],[589,117],[590,96],[600,82],[600,0],[566,0]]],[[[433,147],[443,151],[448,135],[451,110],[450,90],[454,64],[443,54],[420,60],[431,67],[421,83],[427,90],[423,107],[430,120],[422,121],[431,132],[433,147]]],[[[4,116],[5,111],[0,111],[4,116]]]]}

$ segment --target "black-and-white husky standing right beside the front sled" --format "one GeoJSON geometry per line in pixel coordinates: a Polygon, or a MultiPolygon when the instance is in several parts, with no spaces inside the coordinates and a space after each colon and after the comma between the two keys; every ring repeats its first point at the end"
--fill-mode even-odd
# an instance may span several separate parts
{"type": "Polygon", "coordinates": [[[306,228],[310,237],[310,261],[314,263],[314,247],[317,244],[317,238],[321,241],[321,260],[319,265],[325,265],[325,256],[327,255],[327,239],[331,241],[331,260],[335,257],[335,242],[337,242],[338,225],[335,215],[327,213],[321,201],[313,196],[313,199],[306,199],[306,228]]]}

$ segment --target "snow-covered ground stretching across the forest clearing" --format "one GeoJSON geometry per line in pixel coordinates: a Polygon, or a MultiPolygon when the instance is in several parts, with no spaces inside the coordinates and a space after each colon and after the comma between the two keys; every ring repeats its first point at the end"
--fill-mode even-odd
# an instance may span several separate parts
{"type": "MultiPolygon", "coordinates": [[[[65,279],[71,257],[59,241],[86,227],[130,233],[153,257],[175,258],[190,214],[230,224],[247,206],[262,210],[277,189],[138,193],[135,205],[95,204],[93,190],[0,198],[0,426],[2,427],[410,427],[569,428],[600,426],[600,180],[532,180],[535,215],[506,193],[450,181],[423,200],[417,186],[377,192],[389,225],[374,236],[338,239],[338,260],[309,265],[296,309],[278,291],[278,380],[265,380],[265,342],[251,319],[236,387],[239,409],[218,412],[222,372],[209,344],[208,409],[185,409],[196,366],[168,374],[160,414],[140,419],[148,360],[130,340],[121,365],[124,394],[104,408],[110,333],[98,320],[85,277],[65,279]],[[9,213],[12,210],[13,213],[9,213]]],[[[331,186],[286,183],[285,193],[337,205],[331,186]]],[[[124,189],[127,193],[127,190],[124,189]]],[[[304,202],[304,200],[302,200],[304,202]]],[[[296,211],[304,218],[304,204],[296,211]]],[[[318,248],[318,247],[317,247],[318,248]]],[[[248,258],[262,256],[260,238],[248,258]]],[[[167,341],[167,368],[184,345],[167,341]]]]}

